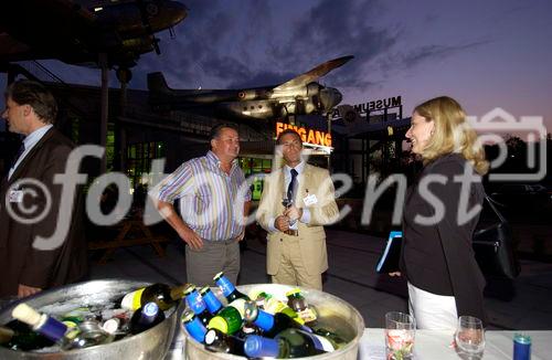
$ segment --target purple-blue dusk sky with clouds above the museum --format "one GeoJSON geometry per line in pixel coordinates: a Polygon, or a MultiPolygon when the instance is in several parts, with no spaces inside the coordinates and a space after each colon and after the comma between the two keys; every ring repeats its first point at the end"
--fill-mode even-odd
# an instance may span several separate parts
{"type": "MultiPolygon", "coordinates": [[[[146,88],[155,71],[178,88],[270,85],[354,55],[321,78],[346,104],[401,95],[407,115],[446,94],[470,115],[502,107],[552,129],[551,1],[182,2],[177,39],[160,34],[162,54],[141,57],[130,87],[146,88]]],[[[42,63],[65,82],[99,84],[97,70],[42,63]]]]}

